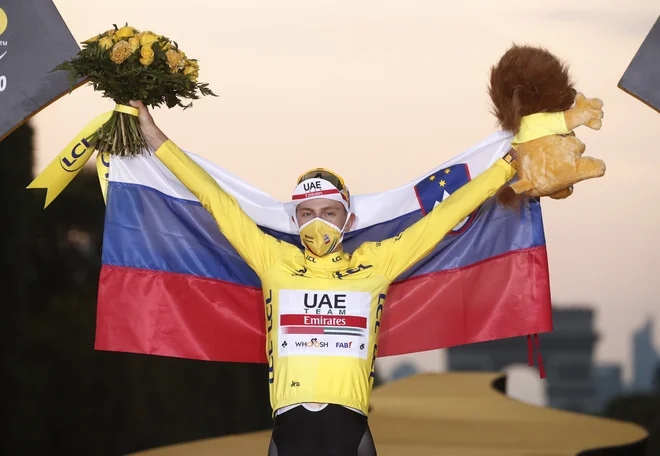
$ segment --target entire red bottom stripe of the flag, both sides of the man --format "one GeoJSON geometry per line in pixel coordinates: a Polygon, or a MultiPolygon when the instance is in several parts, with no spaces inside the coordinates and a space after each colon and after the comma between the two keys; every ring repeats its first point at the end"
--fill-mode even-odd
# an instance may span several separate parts
{"type": "MultiPolygon", "coordinates": [[[[552,330],[545,247],[393,284],[378,356],[552,330]]],[[[261,290],[192,275],[103,265],[98,350],[266,362],[261,290]]],[[[524,344],[524,341],[521,342],[524,344]]]]}

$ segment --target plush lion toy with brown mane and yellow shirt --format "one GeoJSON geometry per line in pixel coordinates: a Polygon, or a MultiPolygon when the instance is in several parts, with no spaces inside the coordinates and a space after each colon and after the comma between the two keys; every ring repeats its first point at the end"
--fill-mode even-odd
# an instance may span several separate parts
{"type": "Polygon", "coordinates": [[[603,103],[574,89],[567,65],[547,50],[513,45],[491,68],[488,93],[493,114],[515,137],[518,180],[496,200],[513,207],[521,198],[563,199],[573,185],[605,174],[605,163],[583,157],[585,145],[573,130],[599,130],[603,103]]]}

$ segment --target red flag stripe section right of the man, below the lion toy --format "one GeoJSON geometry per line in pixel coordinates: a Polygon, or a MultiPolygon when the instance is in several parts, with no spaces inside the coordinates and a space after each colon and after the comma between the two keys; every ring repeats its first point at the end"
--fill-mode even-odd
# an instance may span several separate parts
{"type": "Polygon", "coordinates": [[[385,356],[552,331],[546,248],[392,284],[381,324],[385,356]]]}

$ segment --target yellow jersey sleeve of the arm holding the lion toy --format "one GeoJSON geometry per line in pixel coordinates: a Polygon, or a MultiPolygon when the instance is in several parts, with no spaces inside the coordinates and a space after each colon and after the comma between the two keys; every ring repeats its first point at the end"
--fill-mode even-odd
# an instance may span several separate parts
{"type": "Polygon", "coordinates": [[[495,195],[515,172],[506,161],[498,160],[398,236],[382,242],[365,243],[358,249],[359,253],[372,257],[385,276],[394,281],[428,255],[461,220],[495,195]]]}

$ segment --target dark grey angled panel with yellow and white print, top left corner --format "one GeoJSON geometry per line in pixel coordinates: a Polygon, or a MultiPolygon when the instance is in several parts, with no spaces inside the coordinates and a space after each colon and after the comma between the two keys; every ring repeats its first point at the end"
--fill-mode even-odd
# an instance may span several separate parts
{"type": "Polygon", "coordinates": [[[70,90],[50,71],[79,50],[51,0],[0,4],[0,140],[70,90]]]}

